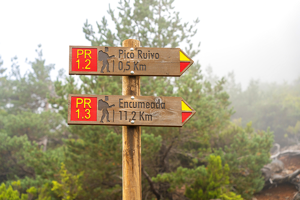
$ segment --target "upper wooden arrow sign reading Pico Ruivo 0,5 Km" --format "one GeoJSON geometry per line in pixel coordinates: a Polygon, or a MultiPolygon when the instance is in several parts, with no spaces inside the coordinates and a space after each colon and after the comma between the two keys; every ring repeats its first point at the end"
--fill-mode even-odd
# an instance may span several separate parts
{"type": "Polygon", "coordinates": [[[70,46],[69,74],[181,76],[193,62],[179,48],[70,46]]]}

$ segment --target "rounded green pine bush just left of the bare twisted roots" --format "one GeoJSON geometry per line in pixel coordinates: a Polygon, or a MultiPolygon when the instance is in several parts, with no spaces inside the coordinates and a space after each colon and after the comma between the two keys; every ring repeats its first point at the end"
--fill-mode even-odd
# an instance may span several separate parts
{"type": "Polygon", "coordinates": [[[254,193],[262,190],[265,183],[261,169],[270,162],[273,132],[269,129],[254,132],[251,123],[248,123],[245,129],[229,125],[222,134],[223,138],[230,138],[230,141],[223,149],[215,150],[214,154],[228,164],[230,184],[236,193],[244,199],[251,199],[254,193]]]}

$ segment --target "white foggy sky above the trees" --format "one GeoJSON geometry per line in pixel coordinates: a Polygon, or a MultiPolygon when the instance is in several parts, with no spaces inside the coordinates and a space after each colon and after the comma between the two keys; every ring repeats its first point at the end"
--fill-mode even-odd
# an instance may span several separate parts
{"type": "MultiPolygon", "coordinates": [[[[17,55],[24,72],[42,44],[46,64],[68,71],[69,46],[90,46],[82,32],[86,19],[97,30],[96,21],[107,14],[111,1],[3,1],[0,12],[0,55],[10,70],[17,55]],[[84,3],[83,3],[84,2],[84,3]]],[[[202,70],[210,65],[215,74],[232,70],[245,89],[251,78],[262,82],[290,82],[300,77],[300,1],[179,1],[173,3],[182,23],[199,17],[192,42],[201,41],[194,61],[202,70]]],[[[110,23],[111,24],[111,23],[110,23]]],[[[112,25],[112,24],[111,24],[112,25]]],[[[184,49],[184,44],[179,48],[184,49]]]]}

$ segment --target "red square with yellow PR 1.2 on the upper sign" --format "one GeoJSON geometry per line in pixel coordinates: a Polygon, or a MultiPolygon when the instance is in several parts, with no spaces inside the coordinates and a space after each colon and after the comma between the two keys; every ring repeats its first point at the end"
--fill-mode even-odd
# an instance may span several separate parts
{"type": "Polygon", "coordinates": [[[97,49],[72,48],[72,71],[97,71],[97,49]]]}

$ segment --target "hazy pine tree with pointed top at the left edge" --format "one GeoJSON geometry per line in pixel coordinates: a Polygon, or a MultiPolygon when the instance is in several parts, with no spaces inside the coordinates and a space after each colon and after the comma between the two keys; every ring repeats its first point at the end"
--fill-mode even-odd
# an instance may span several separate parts
{"type": "Polygon", "coordinates": [[[29,62],[32,69],[25,74],[16,57],[7,75],[0,70],[0,182],[19,180],[21,193],[55,179],[64,160],[62,139],[68,135],[64,119],[48,101],[54,92],[54,65],[45,65],[41,49],[36,52],[38,58],[29,62]]]}

